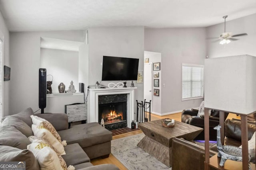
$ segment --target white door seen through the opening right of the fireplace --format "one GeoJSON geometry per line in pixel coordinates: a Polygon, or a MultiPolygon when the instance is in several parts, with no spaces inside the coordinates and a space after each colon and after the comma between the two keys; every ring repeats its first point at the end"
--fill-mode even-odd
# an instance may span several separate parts
{"type": "MultiPolygon", "coordinates": [[[[146,99],[146,102],[149,102],[150,100],[152,100],[152,63],[144,64],[144,99],[146,99]]],[[[152,111],[152,101],[151,101],[151,111],[152,111]]]]}

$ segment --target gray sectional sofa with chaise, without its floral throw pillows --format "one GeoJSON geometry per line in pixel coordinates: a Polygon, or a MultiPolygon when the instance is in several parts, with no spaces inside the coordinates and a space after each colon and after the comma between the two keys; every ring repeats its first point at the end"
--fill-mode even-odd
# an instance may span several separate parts
{"type": "MultiPolygon", "coordinates": [[[[0,127],[0,162],[26,161],[26,170],[39,170],[40,166],[34,154],[27,150],[30,144],[28,137],[33,135],[31,125],[33,114],[31,108],[2,119],[0,127]]],[[[67,141],[63,155],[67,166],[73,165],[76,170],[119,170],[113,164],[93,166],[90,159],[106,158],[111,152],[112,132],[98,123],[74,125],[68,129],[68,117],[64,113],[36,114],[48,120],[62,140],[67,141]]]]}

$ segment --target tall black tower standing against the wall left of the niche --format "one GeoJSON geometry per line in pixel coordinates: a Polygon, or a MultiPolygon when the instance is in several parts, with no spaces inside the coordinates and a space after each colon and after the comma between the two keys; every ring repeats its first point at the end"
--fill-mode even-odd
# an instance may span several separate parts
{"type": "Polygon", "coordinates": [[[39,108],[44,113],[46,107],[46,68],[39,68],[39,108]]]}

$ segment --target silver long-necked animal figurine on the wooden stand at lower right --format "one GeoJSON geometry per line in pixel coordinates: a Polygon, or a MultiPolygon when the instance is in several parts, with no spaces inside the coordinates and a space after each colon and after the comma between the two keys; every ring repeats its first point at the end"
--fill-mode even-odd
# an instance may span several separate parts
{"type": "MultiPolygon", "coordinates": [[[[221,126],[218,125],[213,129],[217,130],[217,149],[218,149],[218,157],[221,157],[220,166],[224,166],[224,163],[227,159],[235,160],[242,162],[242,149],[238,147],[234,147],[231,145],[223,145],[220,142],[220,128],[221,126]]],[[[252,170],[250,166],[250,154],[249,154],[249,170],[252,170]]]]}

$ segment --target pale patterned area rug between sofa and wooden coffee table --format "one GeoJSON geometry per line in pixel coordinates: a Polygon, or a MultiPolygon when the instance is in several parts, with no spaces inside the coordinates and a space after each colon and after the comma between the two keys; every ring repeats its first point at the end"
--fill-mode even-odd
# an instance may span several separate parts
{"type": "Polygon", "coordinates": [[[144,136],[144,133],[140,133],[111,141],[112,155],[128,170],[171,170],[137,146],[144,136]]]}

